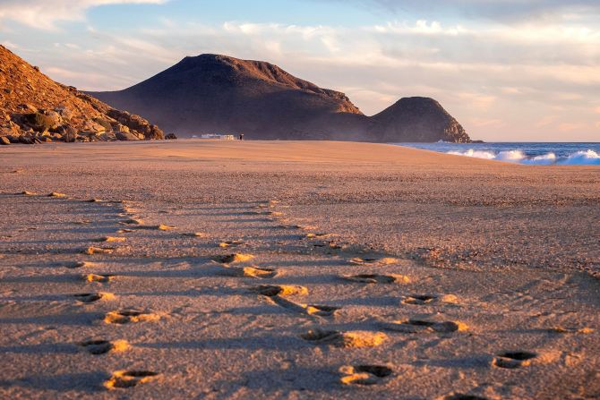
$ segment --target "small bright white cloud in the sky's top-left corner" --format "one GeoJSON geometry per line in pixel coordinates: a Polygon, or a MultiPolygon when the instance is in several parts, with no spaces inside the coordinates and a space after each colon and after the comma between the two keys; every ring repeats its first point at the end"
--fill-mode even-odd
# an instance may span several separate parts
{"type": "Polygon", "coordinates": [[[52,30],[57,21],[81,21],[86,10],[108,4],[163,4],[168,0],[2,0],[0,22],[17,21],[31,28],[52,30]]]}

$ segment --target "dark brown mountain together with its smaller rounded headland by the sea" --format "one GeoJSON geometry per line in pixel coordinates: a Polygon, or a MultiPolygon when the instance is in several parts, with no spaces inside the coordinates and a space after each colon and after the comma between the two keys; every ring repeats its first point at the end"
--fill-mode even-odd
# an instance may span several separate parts
{"type": "Polygon", "coordinates": [[[227,55],[185,57],[131,88],[91,92],[151,116],[178,135],[244,133],[248,139],[468,141],[433,99],[403,98],[368,117],[339,91],[321,89],[277,65],[227,55]]]}

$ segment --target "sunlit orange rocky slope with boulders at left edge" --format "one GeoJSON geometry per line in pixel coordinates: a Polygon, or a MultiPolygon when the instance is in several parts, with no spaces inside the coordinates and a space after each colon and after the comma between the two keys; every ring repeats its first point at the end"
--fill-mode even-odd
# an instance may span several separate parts
{"type": "Polygon", "coordinates": [[[163,132],[73,87],[52,81],[0,46],[0,142],[162,139],[163,132]]]}

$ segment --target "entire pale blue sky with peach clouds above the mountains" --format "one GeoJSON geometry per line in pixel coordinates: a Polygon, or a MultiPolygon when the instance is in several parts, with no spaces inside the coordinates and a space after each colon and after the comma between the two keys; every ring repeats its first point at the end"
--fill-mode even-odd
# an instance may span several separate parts
{"type": "Polygon", "coordinates": [[[600,141],[600,0],[0,0],[0,44],[78,89],[215,53],[366,115],[425,96],[473,139],[600,141]]]}

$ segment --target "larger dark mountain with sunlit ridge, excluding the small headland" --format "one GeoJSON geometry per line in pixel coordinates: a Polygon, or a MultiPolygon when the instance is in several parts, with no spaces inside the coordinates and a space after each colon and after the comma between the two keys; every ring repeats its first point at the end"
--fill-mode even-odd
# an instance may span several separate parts
{"type": "Polygon", "coordinates": [[[93,93],[177,134],[245,133],[253,139],[326,139],[330,115],[359,114],[343,93],[321,89],[278,66],[225,55],[185,57],[129,89],[93,93]],[[315,124],[319,133],[314,133],[315,124]],[[295,133],[297,132],[297,133],[295,133]]]}

